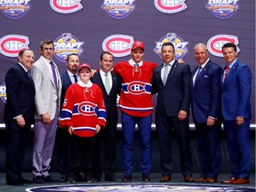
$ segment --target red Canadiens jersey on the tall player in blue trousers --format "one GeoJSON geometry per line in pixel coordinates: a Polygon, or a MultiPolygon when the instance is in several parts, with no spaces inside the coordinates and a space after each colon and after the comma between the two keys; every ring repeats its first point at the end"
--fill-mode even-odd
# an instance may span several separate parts
{"type": "Polygon", "coordinates": [[[153,112],[151,81],[156,63],[143,61],[133,67],[129,61],[119,62],[114,72],[123,78],[119,108],[129,116],[149,116],[153,112]]]}

